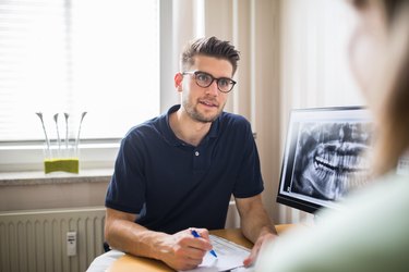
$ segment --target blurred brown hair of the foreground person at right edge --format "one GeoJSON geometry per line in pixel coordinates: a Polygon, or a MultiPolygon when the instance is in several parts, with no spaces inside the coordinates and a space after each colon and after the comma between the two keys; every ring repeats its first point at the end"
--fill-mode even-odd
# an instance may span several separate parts
{"type": "MultiPolygon", "coordinates": [[[[370,0],[356,0],[358,9],[364,9],[370,0]]],[[[372,0],[373,1],[373,0],[372,0]]],[[[405,27],[409,35],[409,4],[407,0],[378,0],[385,9],[390,33],[394,27],[405,27]],[[404,16],[404,20],[402,20],[404,16]],[[397,22],[397,21],[400,22],[397,22]],[[396,25],[398,23],[398,25],[396,25]]],[[[382,175],[396,169],[400,156],[409,148],[409,45],[405,41],[400,63],[393,75],[393,83],[383,102],[382,112],[376,113],[378,135],[374,152],[374,174],[382,175]]]]}

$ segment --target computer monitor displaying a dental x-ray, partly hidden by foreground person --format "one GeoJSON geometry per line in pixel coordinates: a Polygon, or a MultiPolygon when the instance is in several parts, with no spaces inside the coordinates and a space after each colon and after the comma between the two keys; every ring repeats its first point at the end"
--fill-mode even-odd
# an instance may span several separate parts
{"type": "Polygon", "coordinates": [[[308,212],[339,208],[366,183],[372,137],[365,109],[293,110],[277,201],[308,212]]]}

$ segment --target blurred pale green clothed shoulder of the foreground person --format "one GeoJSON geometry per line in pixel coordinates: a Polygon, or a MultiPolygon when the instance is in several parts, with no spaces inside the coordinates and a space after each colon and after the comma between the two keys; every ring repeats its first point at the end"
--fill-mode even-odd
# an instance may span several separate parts
{"type": "Polygon", "coordinates": [[[386,271],[386,264],[395,271],[409,246],[408,181],[382,176],[349,195],[340,210],[322,210],[312,226],[293,227],[267,246],[256,271],[386,271]]]}

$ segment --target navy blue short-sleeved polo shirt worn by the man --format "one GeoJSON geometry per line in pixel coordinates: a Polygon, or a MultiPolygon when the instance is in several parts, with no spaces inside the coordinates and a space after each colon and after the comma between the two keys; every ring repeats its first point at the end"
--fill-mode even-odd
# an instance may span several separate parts
{"type": "Polygon", "coordinates": [[[183,143],[167,114],[133,127],[122,139],[106,207],[140,214],[136,223],[176,233],[224,228],[231,195],[263,191],[250,123],[222,112],[199,146],[183,143]]]}

